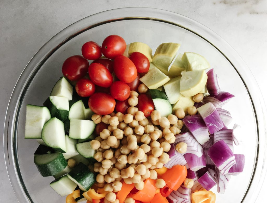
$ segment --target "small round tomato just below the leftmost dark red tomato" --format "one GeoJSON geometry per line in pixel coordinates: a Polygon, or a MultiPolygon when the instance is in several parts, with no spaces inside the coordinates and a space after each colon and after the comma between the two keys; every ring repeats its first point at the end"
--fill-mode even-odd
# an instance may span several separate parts
{"type": "Polygon", "coordinates": [[[81,78],[76,83],[75,90],[81,97],[90,97],[95,92],[96,88],[91,80],[81,78]]]}

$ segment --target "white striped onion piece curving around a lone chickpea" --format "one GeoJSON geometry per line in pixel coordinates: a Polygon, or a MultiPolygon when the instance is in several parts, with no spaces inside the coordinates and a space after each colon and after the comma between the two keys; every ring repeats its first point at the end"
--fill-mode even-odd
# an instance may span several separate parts
{"type": "Polygon", "coordinates": [[[190,132],[180,133],[176,136],[175,143],[184,142],[187,144],[187,153],[195,154],[198,157],[203,155],[203,149],[190,132]]]}

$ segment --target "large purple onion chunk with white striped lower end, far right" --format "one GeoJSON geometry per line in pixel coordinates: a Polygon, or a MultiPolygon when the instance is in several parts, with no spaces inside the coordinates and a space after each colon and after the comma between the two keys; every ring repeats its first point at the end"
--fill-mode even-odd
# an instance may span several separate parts
{"type": "Polygon", "coordinates": [[[236,163],[232,150],[224,140],[213,144],[207,154],[223,175],[227,174],[230,168],[236,163]]]}

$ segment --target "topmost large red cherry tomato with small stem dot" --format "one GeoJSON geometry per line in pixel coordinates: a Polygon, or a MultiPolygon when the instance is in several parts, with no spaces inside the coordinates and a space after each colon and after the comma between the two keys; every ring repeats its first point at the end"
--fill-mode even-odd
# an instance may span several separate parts
{"type": "Polygon", "coordinates": [[[108,59],[114,59],[122,55],[126,49],[125,40],[119,35],[109,35],[104,39],[102,44],[102,53],[108,59]]]}

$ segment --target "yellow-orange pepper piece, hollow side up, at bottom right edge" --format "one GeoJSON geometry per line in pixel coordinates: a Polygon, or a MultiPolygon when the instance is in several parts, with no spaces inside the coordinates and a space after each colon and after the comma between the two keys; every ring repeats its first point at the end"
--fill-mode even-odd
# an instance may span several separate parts
{"type": "Polygon", "coordinates": [[[200,190],[192,194],[192,203],[215,203],[216,194],[207,190],[200,190]]]}

